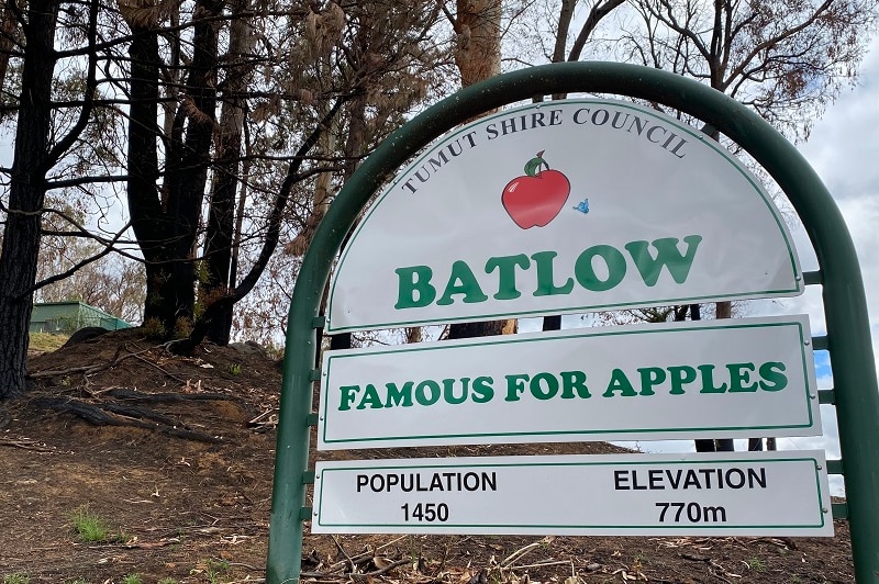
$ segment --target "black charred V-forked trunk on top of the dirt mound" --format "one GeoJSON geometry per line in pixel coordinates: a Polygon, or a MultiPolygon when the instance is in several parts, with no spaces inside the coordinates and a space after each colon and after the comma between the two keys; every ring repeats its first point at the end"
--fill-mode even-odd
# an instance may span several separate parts
{"type": "Polygon", "coordinates": [[[130,23],[135,33],[132,57],[132,109],[129,124],[129,207],[137,243],[146,259],[144,322],[162,325],[165,337],[179,333],[178,321],[191,321],[196,306],[192,248],[198,235],[216,106],[216,23],[219,2],[200,1],[192,27],[193,56],[182,102],[167,147],[162,193],[156,143],[158,114],[158,31],[130,23]]]}

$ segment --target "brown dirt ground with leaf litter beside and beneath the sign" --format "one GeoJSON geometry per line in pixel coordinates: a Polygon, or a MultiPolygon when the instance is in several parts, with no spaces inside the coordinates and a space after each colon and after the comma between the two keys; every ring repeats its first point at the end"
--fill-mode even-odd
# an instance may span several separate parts
{"type": "MultiPolygon", "coordinates": [[[[264,579],[275,361],[215,346],[174,357],[133,329],[35,356],[30,369],[27,397],[0,404],[4,584],[264,579]],[[77,513],[108,526],[103,542],[81,541],[77,513]]],[[[615,450],[577,443],[456,453],[615,450]]],[[[315,583],[854,582],[839,521],[832,539],[309,535],[303,555],[303,580],[315,583]]]]}

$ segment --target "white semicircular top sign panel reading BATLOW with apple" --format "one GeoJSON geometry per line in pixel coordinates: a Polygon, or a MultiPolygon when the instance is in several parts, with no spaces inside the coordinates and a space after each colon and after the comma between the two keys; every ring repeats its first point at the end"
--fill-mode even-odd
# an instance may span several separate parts
{"type": "Polygon", "coordinates": [[[802,290],[780,213],[720,144],[566,100],[480,119],[403,169],[342,255],[327,332],[802,290]]]}

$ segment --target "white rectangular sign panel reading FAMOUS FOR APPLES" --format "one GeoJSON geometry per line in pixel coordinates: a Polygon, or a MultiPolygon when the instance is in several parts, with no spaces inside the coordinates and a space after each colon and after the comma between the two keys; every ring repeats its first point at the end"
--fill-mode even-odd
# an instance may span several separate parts
{"type": "Polygon", "coordinates": [[[318,447],[821,434],[805,316],[327,351],[318,447]]]}

